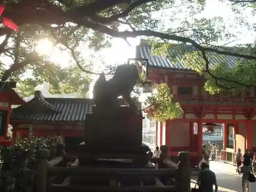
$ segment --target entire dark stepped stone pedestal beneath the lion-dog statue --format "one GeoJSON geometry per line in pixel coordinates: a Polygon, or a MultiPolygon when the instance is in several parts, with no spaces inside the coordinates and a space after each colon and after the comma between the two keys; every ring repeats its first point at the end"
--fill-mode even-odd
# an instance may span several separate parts
{"type": "MultiPolygon", "coordinates": [[[[87,114],[84,144],[79,145],[79,165],[102,164],[103,160],[148,162],[148,146],[142,145],[142,114],[128,107],[95,108],[87,114]]],[[[104,164],[104,163],[103,163],[104,164]]]]}

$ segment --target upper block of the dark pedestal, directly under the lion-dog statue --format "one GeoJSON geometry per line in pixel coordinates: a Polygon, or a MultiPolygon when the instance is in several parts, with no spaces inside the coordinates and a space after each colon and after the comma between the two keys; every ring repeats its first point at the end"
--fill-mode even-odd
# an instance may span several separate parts
{"type": "Polygon", "coordinates": [[[130,108],[94,110],[87,114],[84,127],[84,142],[89,145],[130,145],[142,143],[142,115],[130,108]]]}

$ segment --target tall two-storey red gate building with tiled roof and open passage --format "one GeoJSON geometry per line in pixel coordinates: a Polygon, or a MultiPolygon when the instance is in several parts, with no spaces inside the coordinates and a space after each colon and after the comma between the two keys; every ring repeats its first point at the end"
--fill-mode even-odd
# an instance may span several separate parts
{"type": "MultiPolygon", "coordinates": [[[[172,50],[169,50],[170,53],[172,50]]],[[[191,160],[202,159],[203,124],[223,123],[223,158],[234,162],[238,148],[256,152],[256,90],[251,88],[237,96],[210,95],[204,90],[205,79],[199,73],[163,56],[151,54],[144,40],[136,48],[136,58],[148,59],[147,79],[155,83],[167,83],[174,101],[184,111],[182,118],[156,122],[156,145],[167,145],[170,156],[189,151],[191,160]]],[[[236,58],[216,53],[209,60],[228,62],[234,66],[236,58]]],[[[147,108],[150,110],[150,108],[147,108]]],[[[149,111],[147,111],[149,112],[149,111]]]]}

